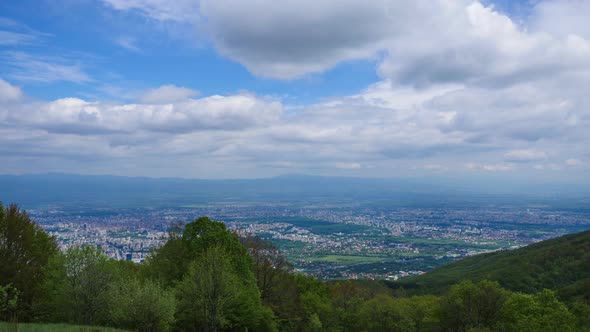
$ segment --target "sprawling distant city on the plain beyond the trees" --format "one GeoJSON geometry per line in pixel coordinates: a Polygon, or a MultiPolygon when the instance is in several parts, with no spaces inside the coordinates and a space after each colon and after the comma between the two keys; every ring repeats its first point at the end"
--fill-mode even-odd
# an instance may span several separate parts
{"type": "Polygon", "coordinates": [[[287,203],[218,203],[179,208],[72,210],[29,214],[62,249],[91,245],[137,263],[173,223],[199,216],[273,242],[296,270],[322,279],[390,279],[422,274],[461,257],[514,249],[590,228],[590,214],[545,207],[388,208],[287,203]]]}

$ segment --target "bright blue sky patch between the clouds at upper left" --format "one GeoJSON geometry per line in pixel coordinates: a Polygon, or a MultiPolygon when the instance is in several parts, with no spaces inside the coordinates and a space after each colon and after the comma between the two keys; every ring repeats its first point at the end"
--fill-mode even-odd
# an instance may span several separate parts
{"type": "MultiPolygon", "coordinates": [[[[297,80],[259,78],[220,55],[195,26],[153,21],[137,10],[117,11],[101,1],[58,4],[37,0],[4,2],[0,6],[4,18],[23,25],[17,31],[30,28],[39,33],[35,42],[3,49],[78,65],[91,79],[55,80],[51,84],[25,82],[24,90],[39,98],[125,99],[105,89],[132,93],[172,82],[204,95],[247,89],[306,103],[355,93],[378,80],[374,62],[366,60],[349,61],[297,80]]],[[[6,69],[3,75],[10,78],[13,70],[6,69]]]]}

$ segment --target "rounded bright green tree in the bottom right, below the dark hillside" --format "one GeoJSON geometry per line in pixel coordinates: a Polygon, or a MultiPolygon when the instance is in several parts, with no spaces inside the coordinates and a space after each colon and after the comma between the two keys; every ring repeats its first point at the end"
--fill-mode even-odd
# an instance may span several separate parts
{"type": "Polygon", "coordinates": [[[550,290],[535,295],[513,293],[502,308],[506,331],[575,331],[575,317],[550,290]]]}

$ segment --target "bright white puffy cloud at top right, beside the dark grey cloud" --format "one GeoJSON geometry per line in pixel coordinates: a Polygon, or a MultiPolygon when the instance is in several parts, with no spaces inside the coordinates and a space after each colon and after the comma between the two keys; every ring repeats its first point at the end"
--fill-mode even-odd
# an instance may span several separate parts
{"type": "Polygon", "coordinates": [[[426,22],[390,41],[383,76],[418,86],[507,86],[588,69],[590,43],[583,38],[529,33],[479,2],[434,3],[440,14],[427,13],[426,22]]]}

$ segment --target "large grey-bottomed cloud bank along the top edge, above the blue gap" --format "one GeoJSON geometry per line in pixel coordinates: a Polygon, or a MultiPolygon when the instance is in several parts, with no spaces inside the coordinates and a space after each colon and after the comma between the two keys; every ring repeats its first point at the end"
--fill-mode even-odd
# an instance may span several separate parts
{"type": "Polygon", "coordinates": [[[158,20],[192,17],[220,53],[262,77],[299,78],[369,59],[401,84],[505,85],[590,66],[590,10],[581,0],[542,2],[531,29],[474,0],[105,1],[158,20]],[[563,22],[568,33],[545,31],[563,22]]]}

